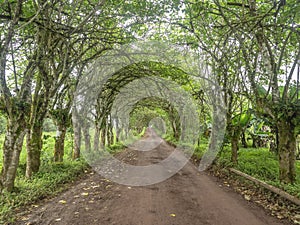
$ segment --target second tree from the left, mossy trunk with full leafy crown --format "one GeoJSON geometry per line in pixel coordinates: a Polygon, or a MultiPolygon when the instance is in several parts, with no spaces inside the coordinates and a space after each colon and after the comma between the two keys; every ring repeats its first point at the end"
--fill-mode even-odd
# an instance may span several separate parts
{"type": "Polygon", "coordinates": [[[27,134],[27,177],[39,170],[42,124],[51,98],[61,91],[75,66],[86,65],[122,39],[122,31],[106,7],[104,1],[71,5],[52,1],[36,18],[41,23],[38,46],[43,60],[38,64],[39,90],[35,88],[27,134]]]}

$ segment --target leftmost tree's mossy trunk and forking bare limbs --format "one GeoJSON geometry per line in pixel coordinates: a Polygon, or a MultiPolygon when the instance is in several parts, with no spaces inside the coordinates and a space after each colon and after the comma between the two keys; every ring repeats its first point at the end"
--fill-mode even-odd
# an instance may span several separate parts
{"type": "MultiPolygon", "coordinates": [[[[26,129],[26,104],[28,103],[27,96],[30,94],[31,84],[31,63],[28,63],[27,71],[29,73],[23,74],[23,85],[20,90],[18,82],[15,79],[15,97],[13,97],[7,83],[7,59],[9,55],[9,48],[13,48],[12,41],[16,34],[16,27],[22,14],[22,0],[14,1],[11,4],[3,4],[5,11],[6,5],[9,8],[10,20],[4,22],[4,29],[1,30],[0,37],[0,106],[1,111],[5,112],[7,117],[7,129],[3,143],[3,165],[0,173],[0,192],[2,189],[12,191],[14,187],[17,167],[19,165],[20,153],[22,150],[25,129],[26,129]],[[7,25],[7,26],[6,26],[7,25]],[[28,76],[29,74],[29,76],[28,76]],[[21,101],[19,101],[21,100],[21,101]],[[25,107],[24,107],[25,106],[25,107]]],[[[12,55],[10,55],[12,56],[12,55]]],[[[13,59],[14,60],[14,59],[13,59]]],[[[16,77],[16,72],[14,73],[16,77]]]]}

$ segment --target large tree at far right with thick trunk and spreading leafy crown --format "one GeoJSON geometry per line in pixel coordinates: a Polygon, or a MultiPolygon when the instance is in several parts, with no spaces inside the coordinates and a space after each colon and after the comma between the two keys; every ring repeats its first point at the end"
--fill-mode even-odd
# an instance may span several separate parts
{"type": "MultiPolygon", "coordinates": [[[[190,14],[183,26],[197,34],[203,50],[222,52],[224,46],[234,47],[232,51],[227,48],[226,55],[234,54],[221,63],[233,65],[245,89],[243,93],[261,116],[276,124],[279,177],[282,182],[294,182],[300,104],[299,81],[293,82],[292,78],[299,66],[299,1],[214,0],[187,5],[190,14]],[[203,27],[206,18],[213,20],[203,27]]],[[[215,63],[222,65],[218,60],[215,63]]]]}

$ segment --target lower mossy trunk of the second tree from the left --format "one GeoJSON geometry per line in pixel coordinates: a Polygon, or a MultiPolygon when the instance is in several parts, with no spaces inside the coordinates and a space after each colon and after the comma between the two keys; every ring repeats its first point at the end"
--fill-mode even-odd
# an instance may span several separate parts
{"type": "Polygon", "coordinates": [[[35,122],[31,129],[27,131],[27,163],[26,177],[30,178],[34,173],[37,173],[41,165],[41,150],[42,150],[42,121],[35,122]]]}

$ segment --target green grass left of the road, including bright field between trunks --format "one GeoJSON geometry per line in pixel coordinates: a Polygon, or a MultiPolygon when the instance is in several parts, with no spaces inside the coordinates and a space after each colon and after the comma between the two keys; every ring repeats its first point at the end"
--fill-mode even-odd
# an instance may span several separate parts
{"type": "MultiPolygon", "coordinates": [[[[3,192],[0,196],[0,224],[14,220],[14,209],[33,204],[37,200],[54,196],[64,190],[68,183],[76,180],[88,168],[84,160],[71,160],[72,137],[68,134],[65,142],[65,158],[63,163],[52,162],[54,149],[54,132],[45,132],[40,171],[31,179],[25,177],[26,150],[23,147],[20,164],[12,193],[3,192]]],[[[0,144],[3,143],[0,136],[0,144]]],[[[24,143],[25,146],[25,143],[24,143]]],[[[2,151],[0,151],[0,169],[2,167],[2,151]]]]}

